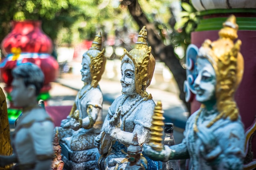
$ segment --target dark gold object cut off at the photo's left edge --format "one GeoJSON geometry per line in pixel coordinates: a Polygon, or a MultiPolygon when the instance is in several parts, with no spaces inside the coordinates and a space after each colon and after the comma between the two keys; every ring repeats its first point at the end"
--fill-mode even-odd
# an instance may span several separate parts
{"type": "MultiPolygon", "coordinates": [[[[7,116],[7,103],[5,94],[0,87],[0,141],[2,147],[0,148],[0,155],[9,156],[12,154],[11,139],[10,139],[10,126],[7,116]]],[[[12,164],[0,167],[0,170],[10,170],[12,164]]]]}

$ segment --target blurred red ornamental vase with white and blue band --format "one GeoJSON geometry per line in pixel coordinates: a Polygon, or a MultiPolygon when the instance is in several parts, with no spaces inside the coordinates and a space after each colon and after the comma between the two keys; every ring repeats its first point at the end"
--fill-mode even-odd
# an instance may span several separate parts
{"type": "Polygon", "coordinates": [[[11,22],[12,30],[1,44],[5,58],[0,63],[0,76],[7,93],[11,92],[11,70],[20,63],[31,62],[42,69],[45,83],[41,92],[48,92],[49,83],[58,76],[58,62],[51,55],[52,40],[42,31],[41,24],[41,21],[11,22]]]}

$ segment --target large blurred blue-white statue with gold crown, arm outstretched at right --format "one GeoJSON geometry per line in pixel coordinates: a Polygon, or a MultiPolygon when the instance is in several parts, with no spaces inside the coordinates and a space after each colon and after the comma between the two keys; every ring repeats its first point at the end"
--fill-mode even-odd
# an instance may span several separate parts
{"type": "Polygon", "coordinates": [[[148,157],[159,161],[190,158],[191,169],[195,170],[243,169],[245,134],[234,101],[243,76],[237,30],[236,17],[231,15],[217,41],[204,41],[197,56],[194,81],[195,99],[201,107],[187,120],[181,144],[164,146],[161,151],[144,145],[148,157]]]}

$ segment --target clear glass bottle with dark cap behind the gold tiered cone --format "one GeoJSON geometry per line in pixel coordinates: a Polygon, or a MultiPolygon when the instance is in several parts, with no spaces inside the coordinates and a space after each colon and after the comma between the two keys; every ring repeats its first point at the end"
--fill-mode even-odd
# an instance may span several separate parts
{"type": "MultiPolygon", "coordinates": [[[[164,124],[164,145],[173,146],[175,140],[173,137],[173,123],[164,124]]],[[[162,163],[163,170],[180,170],[180,160],[169,160],[162,163]]]]}

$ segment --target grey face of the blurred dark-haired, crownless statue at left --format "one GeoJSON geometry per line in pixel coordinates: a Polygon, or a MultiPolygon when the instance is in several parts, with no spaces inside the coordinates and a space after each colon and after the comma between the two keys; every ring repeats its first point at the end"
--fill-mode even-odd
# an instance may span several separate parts
{"type": "Polygon", "coordinates": [[[13,78],[11,83],[12,91],[11,91],[11,99],[13,101],[13,105],[15,107],[26,107],[31,103],[27,94],[28,88],[25,86],[22,78],[13,78]]]}

